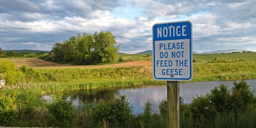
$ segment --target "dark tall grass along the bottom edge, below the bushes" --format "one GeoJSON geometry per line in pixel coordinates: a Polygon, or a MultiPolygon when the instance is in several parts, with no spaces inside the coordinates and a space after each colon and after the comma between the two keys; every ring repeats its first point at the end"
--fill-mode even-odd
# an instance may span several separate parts
{"type": "MultiPolygon", "coordinates": [[[[70,124],[71,127],[167,127],[167,116],[159,115],[156,113],[151,114],[152,118],[147,118],[148,115],[138,114],[130,120],[126,125],[120,125],[117,122],[111,123],[106,120],[101,120],[101,123],[95,124],[92,119],[92,112],[95,110],[95,104],[87,104],[74,106],[74,122],[70,124]]],[[[48,127],[48,114],[47,109],[37,108],[33,113],[32,118],[28,119],[16,119],[8,124],[0,123],[4,126],[22,126],[22,127],[48,127]]],[[[253,109],[248,112],[235,113],[218,113],[210,118],[199,118],[194,119],[192,115],[186,115],[181,112],[180,114],[180,127],[181,128],[194,128],[194,127],[205,127],[205,128],[253,128],[256,127],[256,110],[253,109]]]]}

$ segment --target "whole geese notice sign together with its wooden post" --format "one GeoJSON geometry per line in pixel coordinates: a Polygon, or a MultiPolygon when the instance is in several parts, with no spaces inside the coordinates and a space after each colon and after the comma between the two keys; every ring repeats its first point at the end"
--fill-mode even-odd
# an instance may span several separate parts
{"type": "Polygon", "coordinates": [[[179,81],[193,77],[191,22],[153,25],[152,47],[153,77],[167,80],[167,126],[180,127],[179,81]]]}

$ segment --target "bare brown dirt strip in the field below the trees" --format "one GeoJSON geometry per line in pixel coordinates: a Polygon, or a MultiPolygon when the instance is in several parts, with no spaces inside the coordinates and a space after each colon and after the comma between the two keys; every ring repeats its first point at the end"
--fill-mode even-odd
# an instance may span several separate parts
{"type": "MultiPolygon", "coordinates": [[[[110,68],[110,67],[130,67],[130,66],[152,66],[152,60],[140,61],[124,61],[122,63],[115,63],[109,65],[90,65],[90,66],[77,66],[69,64],[59,64],[49,62],[38,58],[6,58],[16,65],[16,67],[27,66],[34,69],[60,69],[60,68],[110,68]]],[[[146,69],[145,69],[146,70],[146,69]]]]}

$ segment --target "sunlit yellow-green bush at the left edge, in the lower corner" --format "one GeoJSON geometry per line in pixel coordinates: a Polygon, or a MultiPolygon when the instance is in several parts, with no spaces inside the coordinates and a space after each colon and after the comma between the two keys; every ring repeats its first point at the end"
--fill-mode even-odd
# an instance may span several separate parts
{"type": "Polygon", "coordinates": [[[0,94],[0,122],[8,123],[17,117],[15,98],[5,93],[0,94]]]}

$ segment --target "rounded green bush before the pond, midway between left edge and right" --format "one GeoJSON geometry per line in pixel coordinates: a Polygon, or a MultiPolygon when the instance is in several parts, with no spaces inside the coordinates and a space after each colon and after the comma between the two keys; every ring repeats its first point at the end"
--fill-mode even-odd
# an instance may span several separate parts
{"type": "Polygon", "coordinates": [[[101,121],[110,124],[119,123],[125,125],[133,117],[133,106],[126,95],[120,95],[116,99],[108,101],[100,100],[95,106],[92,118],[96,124],[101,121]]]}

